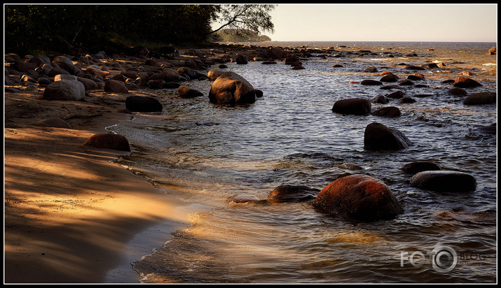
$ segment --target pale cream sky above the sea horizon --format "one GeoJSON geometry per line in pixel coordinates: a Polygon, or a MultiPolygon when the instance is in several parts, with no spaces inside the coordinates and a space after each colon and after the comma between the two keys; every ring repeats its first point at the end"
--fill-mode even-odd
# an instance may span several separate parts
{"type": "Polygon", "coordinates": [[[497,4],[278,4],[272,41],[497,42],[497,4]]]}

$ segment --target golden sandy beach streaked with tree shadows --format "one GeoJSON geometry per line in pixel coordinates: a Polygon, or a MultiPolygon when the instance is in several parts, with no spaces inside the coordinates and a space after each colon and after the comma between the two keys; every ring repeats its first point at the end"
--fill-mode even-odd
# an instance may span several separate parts
{"type": "Polygon", "coordinates": [[[125,95],[48,101],[4,94],[4,283],[136,282],[130,266],[187,226],[191,207],[111,161],[120,152],[83,145],[125,95]],[[47,117],[72,129],[37,127],[47,117]]]}

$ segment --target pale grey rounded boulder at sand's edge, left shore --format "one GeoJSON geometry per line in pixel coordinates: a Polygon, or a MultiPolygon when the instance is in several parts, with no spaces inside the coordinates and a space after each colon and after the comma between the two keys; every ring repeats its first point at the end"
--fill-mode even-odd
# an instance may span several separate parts
{"type": "Polygon", "coordinates": [[[50,83],[43,91],[43,99],[78,101],[85,97],[85,86],[76,80],[50,83]]]}

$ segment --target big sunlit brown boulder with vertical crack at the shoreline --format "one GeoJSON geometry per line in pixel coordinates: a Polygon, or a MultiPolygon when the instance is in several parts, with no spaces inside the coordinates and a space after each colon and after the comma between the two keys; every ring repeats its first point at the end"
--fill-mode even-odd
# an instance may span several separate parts
{"type": "Polygon", "coordinates": [[[226,72],[214,80],[209,91],[212,103],[254,103],[254,87],[235,72],[226,72]]]}

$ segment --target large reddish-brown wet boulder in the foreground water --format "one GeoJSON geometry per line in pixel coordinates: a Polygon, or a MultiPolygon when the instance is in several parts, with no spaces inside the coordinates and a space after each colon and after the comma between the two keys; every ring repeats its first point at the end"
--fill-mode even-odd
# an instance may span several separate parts
{"type": "Polygon", "coordinates": [[[390,187],[363,174],[334,180],[320,191],[313,206],[322,213],[364,222],[393,219],[404,212],[390,187]]]}

